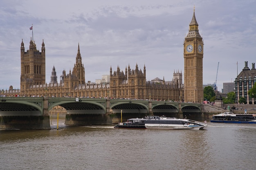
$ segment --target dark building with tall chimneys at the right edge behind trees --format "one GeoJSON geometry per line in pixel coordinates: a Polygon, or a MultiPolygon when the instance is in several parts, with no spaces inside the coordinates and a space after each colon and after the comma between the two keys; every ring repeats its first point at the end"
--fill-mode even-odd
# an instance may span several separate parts
{"type": "Polygon", "coordinates": [[[254,83],[256,83],[255,63],[252,63],[252,69],[250,69],[246,61],[243,71],[239,73],[235,80],[236,102],[241,97],[245,97],[247,104],[256,104],[255,99],[248,95],[248,91],[253,87],[254,83]]]}

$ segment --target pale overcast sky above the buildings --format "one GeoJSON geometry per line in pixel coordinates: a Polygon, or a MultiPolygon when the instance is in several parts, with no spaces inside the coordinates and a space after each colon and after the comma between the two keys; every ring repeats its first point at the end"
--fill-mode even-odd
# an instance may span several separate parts
{"type": "Polygon", "coordinates": [[[0,89],[20,89],[20,43],[46,52],[46,82],[55,66],[75,64],[78,43],[85,82],[146,66],[146,79],[171,81],[184,73],[183,43],[193,16],[204,41],[203,84],[233,82],[248,61],[256,63],[255,0],[1,0],[0,89]],[[237,65],[238,62],[238,65],[237,65]]]}

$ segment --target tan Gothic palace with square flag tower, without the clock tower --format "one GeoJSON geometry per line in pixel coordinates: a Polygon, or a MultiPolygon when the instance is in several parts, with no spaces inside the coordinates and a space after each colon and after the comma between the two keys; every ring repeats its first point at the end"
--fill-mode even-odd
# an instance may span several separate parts
{"type": "Polygon", "coordinates": [[[49,96],[49,97],[112,97],[124,99],[154,99],[179,101],[183,97],[182,74],[173,73],[171,82],[146,81],[146,66],[143,72],[136,64],[135,70],[128,66],[125,73],[117,71],[112,73],[110,67],[110,82],[94,84],[85,83],[85,68],[78,45],[76,64],[71,72],[66,74],[63,70],[60,82],[57,82],[55,67],[52,69],[51,82],[45,82],[45,44],[42,52],[36,50],[36,44],[30,41],[30,49],[24,52],[24,43],[21,43],[21,58],[26,62],[21,63],[20,96],[49,96]],[[26,56],[27,58],[24,59],[26,56]],[[43,58],[44,60],[36,60],[43,58]],[[31,67],[32,66],[32,67],[31,67]],[[39,76],[40,75],[40,76],[39,76]],[[30,77],[29,77],[30,76],[30,77]]]}

